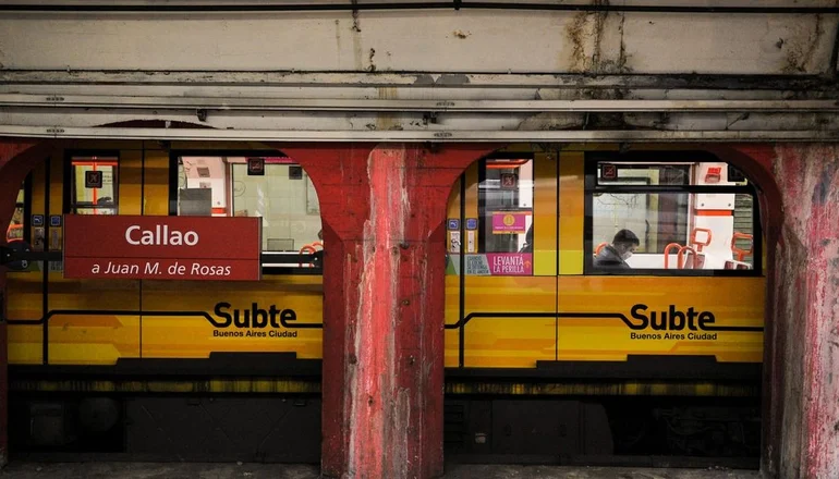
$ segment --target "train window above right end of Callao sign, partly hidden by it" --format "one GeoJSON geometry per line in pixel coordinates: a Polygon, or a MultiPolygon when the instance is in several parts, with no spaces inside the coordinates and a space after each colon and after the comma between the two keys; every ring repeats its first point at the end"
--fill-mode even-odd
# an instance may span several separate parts
{"type": "Polygon", "coordinates": [[[182,156],[178,175],[178,214],[263,219],[265,266],[301,266],[301,250],[321,249],[314,185],[290,158],[182,156]],[[248,160],[260,169],[250,169],[248,160]]]}

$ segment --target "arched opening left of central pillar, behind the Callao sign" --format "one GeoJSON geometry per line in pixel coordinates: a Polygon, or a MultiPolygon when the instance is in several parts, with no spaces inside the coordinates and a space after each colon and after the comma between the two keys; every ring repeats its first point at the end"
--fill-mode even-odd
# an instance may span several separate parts
{"type": "Polygon", "coordinates": [[[299,163],[247,144],[80,140],[3,167],[26,185],[3,231],[32,250],[4,273],[12,458],[318,462],[323,243],[299,163]],[[262,279],[68,279],[64,214],[259,217],[262,279]]]}

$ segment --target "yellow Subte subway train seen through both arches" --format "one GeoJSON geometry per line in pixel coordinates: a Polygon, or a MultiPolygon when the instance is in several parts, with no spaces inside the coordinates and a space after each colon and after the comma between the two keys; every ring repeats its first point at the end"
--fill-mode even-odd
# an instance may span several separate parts
{"type": "MultiPolygon", "coordinates": [[[[439,258],[446,457],[756,467],[759,211],[740,171],[684,147],[473,163],[439,258]]],[[[45,159],[7,231],[35,258],[8,265],[12,457],[318,462],[320,231],[282,151],[97,140],[45,159]],[[74,214],[260,217],[262,280],[64,278],[74,214]]]]}

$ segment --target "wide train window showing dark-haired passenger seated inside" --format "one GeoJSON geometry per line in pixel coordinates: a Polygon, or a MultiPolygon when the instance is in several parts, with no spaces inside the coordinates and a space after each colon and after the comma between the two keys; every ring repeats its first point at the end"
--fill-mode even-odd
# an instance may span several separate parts
{"type": "Polygon", "coordinates": [[[753,191],[726,163],[601,161],[586,182],[587,272],[759,271],[753,191]],[[593,186],[594,185],[594,186],[593,186]]]}

